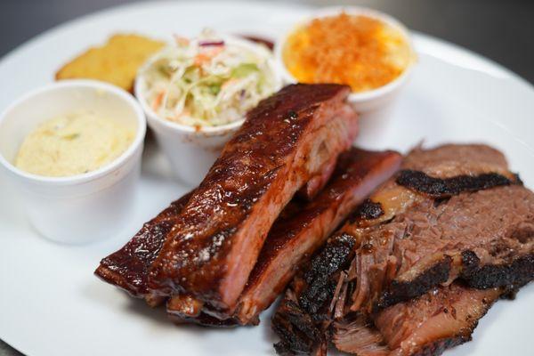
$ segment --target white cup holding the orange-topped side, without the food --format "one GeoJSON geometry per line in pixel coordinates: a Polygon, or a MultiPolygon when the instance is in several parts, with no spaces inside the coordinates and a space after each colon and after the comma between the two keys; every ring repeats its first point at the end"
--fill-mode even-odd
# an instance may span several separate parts
{"type": "MultiPolygon", "coordinates": [[[[410,46],[413,47],[412,39],[409,34],[409,30],[404,27],[404,25],[392,18],[390,15],[384,12],[378,12],[373,9],[366,7],[358,6],[330,6],[325,8],[320,8],[310,14],[306,14],[302,19],[294,21],[287,27],[282,34],[278,37],[275,46],[274,46],[274,55],[276,59],[276,64],[278,66],[279,72],[287,83],[295,83],[296,79],[286,68],[284,60],[282,58],[283,48],[287,40],[287,36],[295,31],[296,28],[303,26],[304,24],[310,22],[313,19],[320,19],[328,16],[336,16],[337,14],[345,12],[352,15],[363,15],[377,20],[381,20],[392,28],[396,28],[401,32],[402,36],[406,38],[406,41],[410,46]]],[[[379,88],[370,90],[363,93],[351,93],[349,95],[349,102],[352,103],[354,108],[362,114],[374,114],[377,110],[382,111],[385,107],[392,105],[393,101],[397,99],[399,93],[401,93],[402,87],[409,80],[414,66],[417,64],[417,61],[413,61],[409,64],[408,68],[404,69],[401,73],[401,76],[396,77],[392,82],[387,85],[381,86],[379,88]]]]}

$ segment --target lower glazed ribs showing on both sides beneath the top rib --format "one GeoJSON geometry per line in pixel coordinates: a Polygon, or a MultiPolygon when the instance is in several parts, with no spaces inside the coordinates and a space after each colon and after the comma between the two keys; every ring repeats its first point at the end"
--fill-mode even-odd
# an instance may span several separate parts
{"type": "MultiPolygon", "coordinates": [[[[396,172],[400,164],[401,155],[393,151],[352,148],[344,152],[327,188],[310,202],[292,200],[273,224],[234,315],[220,320],[202,312],[201,303],[190,295],[174,295],[167,301],[172,320],[216,327],[254,324],[259,313],[283,291],[298,266],[324,243],[363,198],[396,172]]],[[[145,223],[125,247],[102,259],[96,274],[134,297],[145,298],[151,306],[164,302],[165,297],[150,294],[148,268],[158,255],[176,214],[189,197],[190,193],[145,223]]]]}

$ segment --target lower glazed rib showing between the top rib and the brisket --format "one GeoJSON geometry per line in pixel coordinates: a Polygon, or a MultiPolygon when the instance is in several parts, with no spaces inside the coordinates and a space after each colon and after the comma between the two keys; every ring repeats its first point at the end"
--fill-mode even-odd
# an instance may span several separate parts
{"type": "MultiPolygon", "coordinates": [[[[401,155],[393,151],[373,152],[352,148],[339,156],[327,187],[311,202],[294,199],[273,224],[239,297],[232,318],[235,322],[257,324],[258,315],[267,309],[293,278],[303,259],[322,246],[355,206],[386,181],[401,165],[401,155]]],[[[201,315],[201,305],[189,296],[176,295],[167,303],[174,317],[221,324],[201,315]]],[[[204,313],[205,314],[205,313],[204,313]]]]}

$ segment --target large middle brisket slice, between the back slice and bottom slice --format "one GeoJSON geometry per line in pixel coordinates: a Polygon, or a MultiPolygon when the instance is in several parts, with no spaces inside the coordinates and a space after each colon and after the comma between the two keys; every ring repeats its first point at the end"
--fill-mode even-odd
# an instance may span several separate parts
{"type": "Polygon", "coordinates": [[[534,278],[534,194],[511,185],[423,201],[369,229],[356,252],[352,311],[371,312],[457,278],[506,287],[534,278]]]}

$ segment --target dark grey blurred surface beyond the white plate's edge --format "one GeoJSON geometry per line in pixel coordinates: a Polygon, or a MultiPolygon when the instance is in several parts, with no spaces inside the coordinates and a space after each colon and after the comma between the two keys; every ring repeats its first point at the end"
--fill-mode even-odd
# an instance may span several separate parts
{"type": "MultiPolygon", "coordinates": [[[[0,0],[0,56],[61,22],[130,2],[132,1],[0,0]]],[[[532,0],[295,2],[315,5],[358,4],[389,12],[411,29],[441,37],[481,53],[512,69],[530,83],[534,83],[534,1],[532,0]]],[[[0,322],[2,322],[1,316],[0,322]]],[[[0,340],[0,356],[6,355],[21,355],[21,353],[0,340]]]]}

